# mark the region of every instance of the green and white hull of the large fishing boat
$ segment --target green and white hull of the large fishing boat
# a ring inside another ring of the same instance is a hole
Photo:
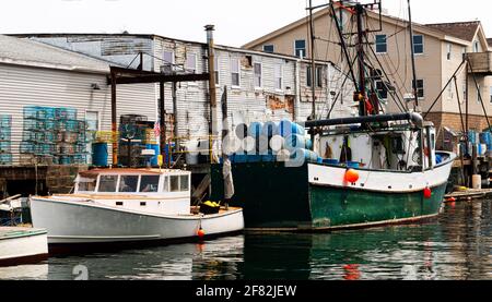
[[[244,208],[247,230],[324,231],[412,222],[438,215],[452,160],[425,172],[358,170],[284,162],[234,164],[236,192],[231,205]],[[424,189],[432,192],[430,198]],[[221,200],[221,166],[212,167],[213,200]]]

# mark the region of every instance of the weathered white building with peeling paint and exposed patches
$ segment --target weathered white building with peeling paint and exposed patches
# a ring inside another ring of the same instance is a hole
[[[208,72],[207,45],[156,35],[36,34],[16,35],[119,65],[137,68],[143,55],[143,70],[155,72]],[[234,126],[254,120],[291,118],[305,121],[312,113],[311,84],[316,85],[317,117],[326,118],[335,96],[340,94],[332,116],[354,114],[352,88],[342,87],[344,74],[328,61],[318,61],[315,81],[307,75],[309,62],[294,56],[272,55],[215,46],[216,96],[226,87],[229,121]],[[153,85],[154,102],[159,84]],[[204,137],[210,120],[207,82],[180,83],[173,100],[172,84],[165,85],[165,109],[176,119],[177,136]],[[118,104],[121,101],[118,99]],[[155,105],[157,106],[157,105]],[[175,110],[176,108],[176,110]],[[155,109],[155,107],[153,107]],[[156,110],[155,110],[156,111]]]

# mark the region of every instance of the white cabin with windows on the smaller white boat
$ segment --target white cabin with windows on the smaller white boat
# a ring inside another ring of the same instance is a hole
[[[157,215],[190,215],[189,171],[101,169],[79,173],[74,194],[63,198]]]

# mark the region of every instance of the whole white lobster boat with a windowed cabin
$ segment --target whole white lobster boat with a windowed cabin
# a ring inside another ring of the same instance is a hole
[[[190,205],[190,172],[99,169],[81,172],[73,194],[31,197],[33,226],[48,243],[116,243],[219,235],[244,228],[242,208],[203,214]]]

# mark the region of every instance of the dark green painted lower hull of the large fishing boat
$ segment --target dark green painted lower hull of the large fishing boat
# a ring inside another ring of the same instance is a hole
[[[387,222],[437,215],[446,183],[423,192],[386,193],[308,183],[307,165],[233,164],[232,206],[244,208],[246,228],[309,229]],[[222,166],[212,166],[213,201],[223,196]]]

